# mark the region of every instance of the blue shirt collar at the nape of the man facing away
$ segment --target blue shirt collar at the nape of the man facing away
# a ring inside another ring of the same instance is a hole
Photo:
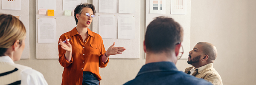
[[[152,62],[143,65],[140,69],[140,72],[137,76],[149,72],[157,72],[157,71],[178,71],[175,64],[173,62]]]

